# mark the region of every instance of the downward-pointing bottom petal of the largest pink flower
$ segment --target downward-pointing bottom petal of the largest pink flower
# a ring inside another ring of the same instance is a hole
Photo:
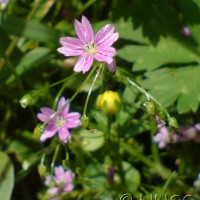
[[[76,65],[74,66],[74,71],[75,72],[83,71],[83,73],[85,73],[85,72],[89,71],[92,64],[93,64],[93,56],[83,54],[80,56],[80,58],[76,62]]]

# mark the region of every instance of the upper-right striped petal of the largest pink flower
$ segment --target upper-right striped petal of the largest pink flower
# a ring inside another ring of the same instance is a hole
[[[118,33],[114,33],[114,26],[107,24],[95,35],[95,43],[98,45],[111,46],[119,38]]]

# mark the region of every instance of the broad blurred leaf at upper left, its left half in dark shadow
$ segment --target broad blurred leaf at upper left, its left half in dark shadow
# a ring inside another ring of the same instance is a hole
[[[39,42],[58,42],[59,32],[38,21],[7,16],[2,20],[2,29],[9,34],[24,36]]]

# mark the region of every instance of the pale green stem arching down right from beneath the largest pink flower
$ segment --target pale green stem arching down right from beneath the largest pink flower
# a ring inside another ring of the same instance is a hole
[[[135,83],[130,77],[122,74],[119,70],[116,71],[116,77],[120,78],[120,80],[124,82],[125,84],[128,83],[130,86],[133,86],[134,88],[136,88],[140,93],[146,96],[148,101],[151,100],[155,104],[157,104],[165,112],[168,119],[170,118],[170,114],[167,112],[165,107],[157,99],[155,99],[152,95],[150,95],[144,88],[142,88],[137,83]]]

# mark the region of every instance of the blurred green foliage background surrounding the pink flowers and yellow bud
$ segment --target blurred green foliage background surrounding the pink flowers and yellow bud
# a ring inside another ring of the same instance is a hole
[[[4,199],[10,195],[11,199],[45,198],[37,166],[44,152],[45,165],[50,165],[57,141],[41,144],[34,139],[36,114],[41,106],[51,107],[60,91],[60,85],[49,85],[73,73],[75,60],[64,58],[56,49],[61,36],[75,34],[74,19],[82,15],[96,31],[107,23],[115,25],[120,34],[115,45],[117,66],[177,118],[176,132],[200,122],[199,0],[11,0],[0,12],[0,169],[10,166],[8,183],[0,182],[0,199],[2,194]],[[188,36],[182,33],[184,27],[190,31]],[[72,96],[85,78],[80,74],[64,83],[63,95]],[[73,101],[73,110],[82,113],[91,81]],[[95,105],[97,96],[107,89],[118,91],[122,98],[122,109],[112,118],[116,140],[112,145],[105,141],[94,152],[72,142],[70,160],[65,160],[61,148],[57,162],[67,162],[77,177],[74,192],[63,198],[119,199],[131,193],[138,199],[140,194],[162,194],[175,171],[165,193],[199,199],[193,186],[200,168],[199,142],[189,140],[159,150],[152,141],[155,122],[137,90],[112,78],[98,80],[88,109],[91,128],[107,130],[107,117]],[[37,101],[23,109],[19,100],[33,90],[39,91]],[[117,172],[111,184],[106,174],[112,167]]]

